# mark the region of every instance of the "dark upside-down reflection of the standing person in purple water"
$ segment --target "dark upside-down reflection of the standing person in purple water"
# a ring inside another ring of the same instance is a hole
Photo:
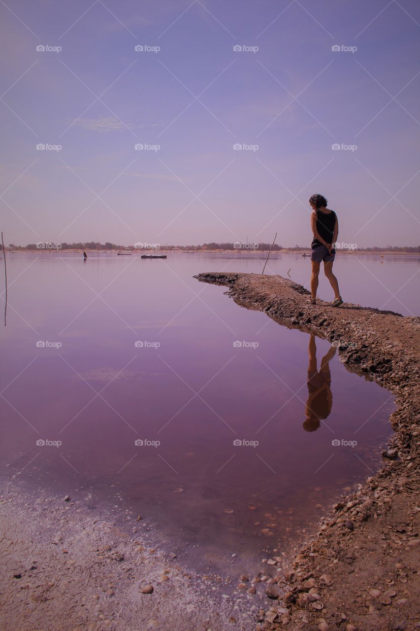
[[[328,353],[321,360],[320,369],[317,369],[317,346],[315,335],[309,339],[309,366],[308,366],[308,401],[306,401],[306,421],[303,429],[306,432],[315,432],[320,426],[320,421],[328,418],[332,408],[331,373],[329,362],[335,355],[335,348],[331,346]]]

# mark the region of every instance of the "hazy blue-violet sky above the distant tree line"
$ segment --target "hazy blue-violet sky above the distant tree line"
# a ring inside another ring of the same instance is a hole
[[[342,244],[420,243],[417,0],[1,0],[0,17],[6,245],[305,246],[313,193]]]

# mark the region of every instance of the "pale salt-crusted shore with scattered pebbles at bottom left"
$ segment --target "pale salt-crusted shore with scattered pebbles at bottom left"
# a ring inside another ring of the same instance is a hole
[[[1,487],[2,631],[255,629],[264,589],[232,594],[222,577],[185,569],[135,517],[127,533],[124,514],[90,509],[86,493]]]

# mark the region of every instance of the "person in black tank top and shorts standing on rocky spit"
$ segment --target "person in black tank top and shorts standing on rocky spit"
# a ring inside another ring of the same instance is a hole
[[[315,194],[309,199],[313,213],[311,215],[311,228],[313,232],[312,240],[312,276],[311,276],[311,297],[308,300],[312,305],[317,304],[317,289],[319,268],[324,261],[324,272],[334,290],[333,307],[342,305],[342,298],[338,286],[337,278],[332,273],[332,264],[335,258],[333,244],[338,237],[338,219],[334,210],[327,208],[327,200],[324,196]]]

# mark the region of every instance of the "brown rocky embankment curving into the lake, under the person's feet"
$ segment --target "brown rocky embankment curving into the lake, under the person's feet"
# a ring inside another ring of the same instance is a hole
[[[349,370],[386,387],[397,410],[383,468],[331,507],[315,539],[267,585],[261,631],[420,628],[420,318],[359,305],[339,309],[281,276],[202,273],[238,304],[328,339]]]

